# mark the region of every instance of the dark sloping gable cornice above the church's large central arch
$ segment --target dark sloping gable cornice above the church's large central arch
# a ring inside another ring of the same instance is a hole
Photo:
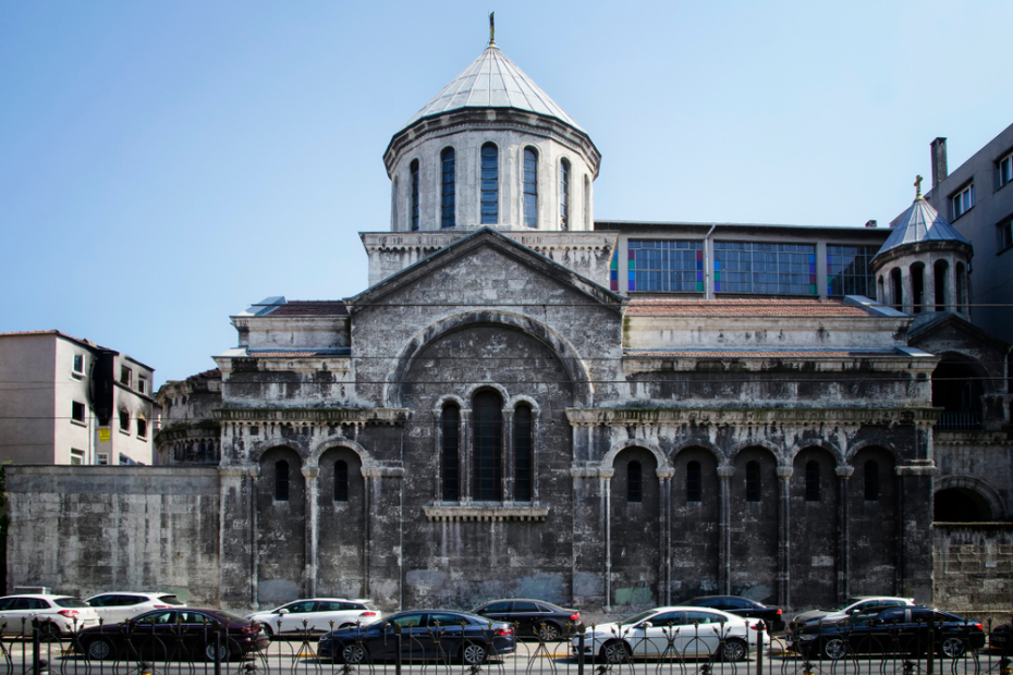
[[[551,260],[513,241],[509,236],[491,228],[481,228],[474,233],[457,240],[456,242],[444,246],[431,256],[423,258],[414,265],[410,265],[400,272],[396,272],[379,283],[366,289],[354,297],[345,298],[344,303],[350,314],[355,314],[358,309],[373,305],[382,304],[385,297],[396,292],[402,287],[412,285],[415,281],[432,273],[444,265],[459,259],[468,251],[474,250],[483,245],[490,245],[500,251],[513,257],[514,259],[538,269],[546,277],[557,280],[561,285],[572,287],[577,293],[593,298],[595,302],[612,307],[617,312],[622,312],[625,298],[618,293],[609,291],[590,279],[577,274],[567,267]],[[524,303],[524,298],[517,298],[518,304]],[[456,303],[455,303],[456,304]],[[502,306],[501,300],[491,300],[489,303],[478,303],[485,305]]]

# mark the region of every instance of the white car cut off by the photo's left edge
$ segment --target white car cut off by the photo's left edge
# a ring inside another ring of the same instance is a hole
[[[88,626],[98,625],[98,614],[78,598],[50,593],[24,593],[0,598],[3,635],[30,635],[38,618],[44,639],[59,639]]]

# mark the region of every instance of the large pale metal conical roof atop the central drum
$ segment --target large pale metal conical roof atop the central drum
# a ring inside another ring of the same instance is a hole
[[[556,118],[584,131],[495,44],[489,45],[402,128],[423,118],[460,108],[516,108]]]

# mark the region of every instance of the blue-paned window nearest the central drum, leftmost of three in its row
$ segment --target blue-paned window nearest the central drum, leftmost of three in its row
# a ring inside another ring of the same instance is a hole
[[[704,292],[704,243],[630,240],[630,291]]]

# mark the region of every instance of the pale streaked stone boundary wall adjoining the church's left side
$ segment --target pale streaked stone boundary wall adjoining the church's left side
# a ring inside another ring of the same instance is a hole
[[[8,587],[218,604],[217,468],[8,466]]]

